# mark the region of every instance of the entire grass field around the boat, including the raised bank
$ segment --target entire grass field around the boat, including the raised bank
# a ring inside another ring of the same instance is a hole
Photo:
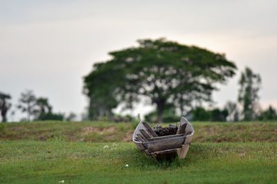
[[[277,123],[193,125],[186,158],[156,163],[132,123],[0,124],[0,183],[276,183]]]

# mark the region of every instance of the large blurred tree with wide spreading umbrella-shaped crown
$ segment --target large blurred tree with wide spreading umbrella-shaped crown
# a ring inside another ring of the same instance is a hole
[[[139,46],[109,54],[109,61],[94,65],[84,77],[89,109],[111,111],[118,103],[132,108],[133,102],[148,98],[159,122],[168,104],[184,113],[197,102],[211,101],[216,84],[236,69],[223,54],[166,39],[142,39]]]

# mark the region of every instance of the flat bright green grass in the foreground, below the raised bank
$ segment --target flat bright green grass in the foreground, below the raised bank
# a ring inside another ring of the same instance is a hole
[[[156,163],[131,142],[2,141],[0,182],[276,183],[276,150],[275,142],[197,143],[184,160]]]

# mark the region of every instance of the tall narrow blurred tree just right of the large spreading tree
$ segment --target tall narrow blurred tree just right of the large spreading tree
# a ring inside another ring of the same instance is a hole
[[[244,120],[256,120],[258,108],[258,91],[260,90],[260,75],[253,73],[250,68],[245,68],[240,76],[240,90],[238,101],[242,104],[242,116]]]

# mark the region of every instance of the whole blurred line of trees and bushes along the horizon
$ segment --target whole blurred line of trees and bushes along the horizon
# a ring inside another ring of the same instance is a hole
[[[259,91],[262,79],[246,67],[238,81],[238,101],[227,102],[220,109],[211,98],[220,84],[235,75],[235,63],[222,53],[206,48],[187,46],[167,39],[139,39],[138,46],[116,50],[111,59],[93,65],[84,76],[83,93],[89,100],[82,120],[132,122],[141,118],[114,113],[122,107],[131,110],[148,102],[154,111],[145,116],[150,122],[188,120],[211,122],[276,121],[274,107],[262,110]],[[7,121],[11,96],[0,92],[1,120]],[[16,109],[26,115],[21,121],[77,120],[73,112],[66,115],[53,111],[48,98],[33,91],[21,93]]]

